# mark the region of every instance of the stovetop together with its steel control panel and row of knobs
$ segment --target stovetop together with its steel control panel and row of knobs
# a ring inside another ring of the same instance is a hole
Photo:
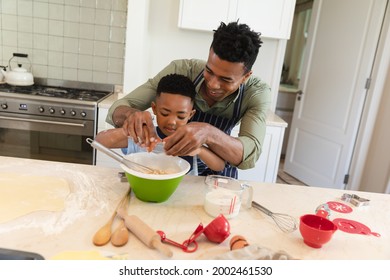
[[[34,79],[32,86],[0,84],[0,115],[51,119],[95,120],[98,103],[114,92],[113,85]]]

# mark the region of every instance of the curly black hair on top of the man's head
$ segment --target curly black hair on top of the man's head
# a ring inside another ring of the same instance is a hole
[[[215,54],[229,62],[243,62],[246,72],[252,69],[261,44],[261,33],[255,32],[246,24],[230,22],[214,30],[211,47]]]

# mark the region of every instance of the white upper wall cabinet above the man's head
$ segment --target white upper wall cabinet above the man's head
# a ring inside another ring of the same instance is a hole
[[[181,0],[178,26],[211,31],[239,20],[264,37],[289,39],[294,9],[295,0]]]

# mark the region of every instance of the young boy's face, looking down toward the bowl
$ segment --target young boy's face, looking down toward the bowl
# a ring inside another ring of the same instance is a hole
[[[166,136],[187,124],[195,113],[191,98],[165,92],[156,98],[156,102],[152,102],[152,110],[156,115],[158,127]]]

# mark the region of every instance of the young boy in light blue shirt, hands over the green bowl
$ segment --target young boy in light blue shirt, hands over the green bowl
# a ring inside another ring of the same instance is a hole
[[[183,75],[170,74],[160,80],[157,86],[156,99],[151,103],[153,113],[156,115],[156,132],[160,137],[160,139],[151,139],[154,144],[163,141],[162,139],[174,133],[177,128],[187,124],[195,114],[193,109],[195,95],[194,84]],[[148,112],[145,113],[149,114]],[[146,130],[145,132],[147,133]],[[123,128],[102,131],[96,135],[95,140],[108,148],[122,148],[125,154],[146,151],[146,148],[137,145],[131,138],[128,138]],[[223,159],[207,147],[202,146],[188,156],[182,156],[190,163],[192,167],[191,174],[193,175],[198,175],[197,156],[214,171],[218,172],[225,168]]]

